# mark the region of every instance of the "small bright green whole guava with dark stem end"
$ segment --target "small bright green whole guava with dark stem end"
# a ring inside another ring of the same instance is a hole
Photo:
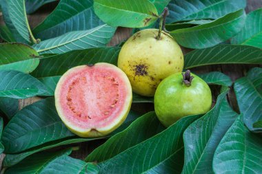
[[[211,105],[210,87],[189,70],[165,78],[154,95],[154,109],[165,127],[184,116],[207,113]]]

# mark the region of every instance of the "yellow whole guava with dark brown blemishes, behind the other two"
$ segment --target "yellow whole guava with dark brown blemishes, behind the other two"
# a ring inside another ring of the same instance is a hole
[[[147,29],[134,34],[121,48],[118,67],[127,74],[132,90],[142,96],[154,96],[164,78],[182,72],[183,52],[172,36]]]

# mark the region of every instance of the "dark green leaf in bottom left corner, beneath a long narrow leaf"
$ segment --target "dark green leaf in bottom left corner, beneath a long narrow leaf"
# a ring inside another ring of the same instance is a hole
[[[37,153],[30,157],[27,157],[25,160],[19,164],[8,168],[6,174],[37,174],[42,173],[43,169],[52,163],[58,157],[63,157],[71,153],[71,149],[66,149],[63,151],[54,151],[54,152],[43,152]]]

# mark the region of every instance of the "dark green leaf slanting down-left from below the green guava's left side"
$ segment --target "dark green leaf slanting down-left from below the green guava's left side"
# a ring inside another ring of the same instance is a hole
[[[103,162],[115,155],[125,151],[126,149],[139,144],[163,131],[164,127],[157,119],[154,112],[146,113],[141,118],[132,122],[124,131],[112,136],[107,142],[92,151],[86,162]],[[110,151],[108,151],[110,149]]]

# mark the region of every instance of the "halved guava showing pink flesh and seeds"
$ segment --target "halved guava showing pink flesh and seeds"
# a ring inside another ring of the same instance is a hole
[[[81,65],[61,76],[54,92],[59,117],[73,133],[108,135],[128,116],[132,87],[121,69],[109,63]]]

